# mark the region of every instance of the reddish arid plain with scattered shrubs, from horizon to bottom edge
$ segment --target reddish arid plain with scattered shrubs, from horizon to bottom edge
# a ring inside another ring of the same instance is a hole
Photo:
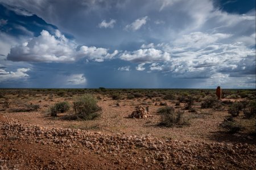
[[[84,94],[101,108],[93,120],[72,118],[73,101]],[[0,169],[256,169],[255,96],[255,90],[223,90],[220,101],[214,90],[2,89]],[[51,116],[62,101],[70,109]],[[152,117],[129,118],[137,105],[148,106]],[[164,108],[176,115],[171,125]]]

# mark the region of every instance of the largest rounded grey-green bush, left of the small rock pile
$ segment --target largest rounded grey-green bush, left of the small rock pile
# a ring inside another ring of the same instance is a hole
[[[73,109],[76,114],[76,119],[81,118],[82,120],[93,120],[100,116],[98,111],[101,110],[97,105],[97,100],[93,95],[86,94],[79,97],[73,102]]]

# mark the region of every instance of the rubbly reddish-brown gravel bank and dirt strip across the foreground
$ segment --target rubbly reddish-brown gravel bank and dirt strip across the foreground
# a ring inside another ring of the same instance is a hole
[[[1,169],[255,169],[256,147],[0,123]]]

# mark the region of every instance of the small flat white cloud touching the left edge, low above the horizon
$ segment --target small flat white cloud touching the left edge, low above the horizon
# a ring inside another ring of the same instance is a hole
[[[15,80],[28,77],[26,73],[30,69],[28,68],[20,68],[14,71],[6,71],[5,69],[0,69],[0,82],[4,82],[6,80]]]

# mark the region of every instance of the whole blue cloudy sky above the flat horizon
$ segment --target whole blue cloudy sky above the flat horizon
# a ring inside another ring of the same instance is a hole
[[[255,88],[255,0],[0,0],[0,88]]]

